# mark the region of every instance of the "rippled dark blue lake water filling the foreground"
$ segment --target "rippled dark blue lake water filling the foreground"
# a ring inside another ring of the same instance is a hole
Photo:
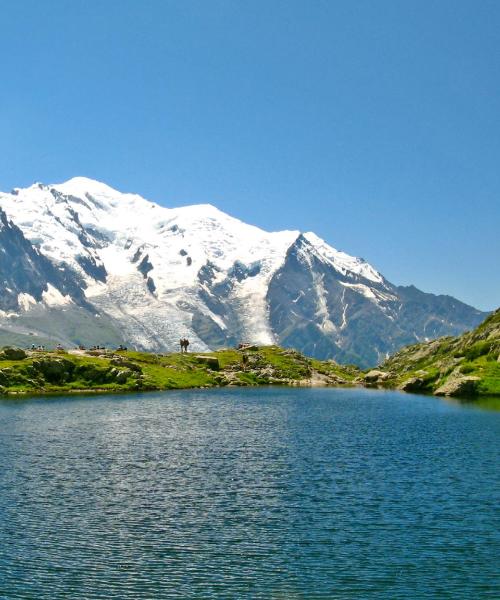
[[[370,390],[0,401],[0,598],[499,598],[500,413]]]

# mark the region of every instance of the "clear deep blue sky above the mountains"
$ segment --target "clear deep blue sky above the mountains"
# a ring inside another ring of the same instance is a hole
[[[500,2],[0,8],[0,189],[210,202],[500,305]]]

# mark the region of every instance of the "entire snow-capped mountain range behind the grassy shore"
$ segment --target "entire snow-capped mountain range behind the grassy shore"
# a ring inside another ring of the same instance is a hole
[[[1,339],[278,343],[372,364],[485,316],[396,287],[314,233],[269,233],[209,204],[164,208],[76,177],[0,193],[0,210]]]

